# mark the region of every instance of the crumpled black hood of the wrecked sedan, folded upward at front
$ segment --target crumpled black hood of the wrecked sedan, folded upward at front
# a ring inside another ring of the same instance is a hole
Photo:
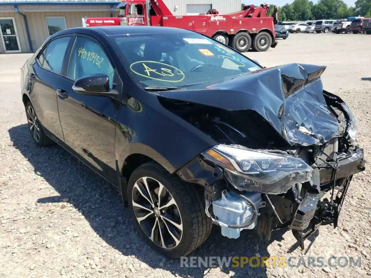
[[[209,86],[157,94],[226,110],[255,110],[290,145],[322,145],[339,129],[323,95],[320,76],[325,69],[285,64]]]

